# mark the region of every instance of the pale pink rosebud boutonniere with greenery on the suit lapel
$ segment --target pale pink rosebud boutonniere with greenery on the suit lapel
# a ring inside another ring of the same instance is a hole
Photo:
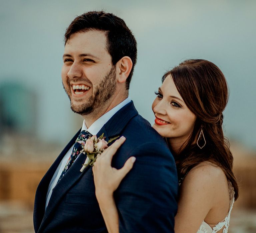
[[[83,145],[83,149],[80,151],[80,153],[86,154],[86,159],[80,171],[83,172],[88,165],[93,166],[97,155],[101,154],[108,147],[108,143],[116,140],[118,137],[111,138],[108,141],[105,141],[106,137],[104,137],[104,133],[98,138],[96,135],[89,137]]]

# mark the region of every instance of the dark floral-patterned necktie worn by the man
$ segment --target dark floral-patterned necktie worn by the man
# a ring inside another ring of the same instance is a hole
[[[71,165],[76,160],[78,154],[80,153],[80,150],[82,150],[82,146],[85,144],[85,141],[91,136],[92,136],[91,133],[89,133],[88,131],[84,131],[84,130],[81,131],[81,133],[78,135],[78,138],[76,139],[72,153],[67,161],[66,166],[64,167],[64,169],[60,175],[58,182],[60,181],[60,179],[64,176],[64,174],[67,172],[67,170],[71,167]]]

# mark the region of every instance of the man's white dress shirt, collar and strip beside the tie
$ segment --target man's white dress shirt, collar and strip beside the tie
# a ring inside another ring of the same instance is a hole
[[[87,130],[88,132],[90,132],[92,135],[96,135],[100,129],[103,127],[103,125],[105,123],[107,123],[107,121],[114,116],[114,114],[119,111],[121,108],[123,108],[125,105],[127,105],[128,103],[131,102],[130,97],[128,97],[127,99],[125,99],[123,102],[121,102],[120,104],[118,104],[117,106],[115,106],[113,109],[109,110],[107,113],[105,113],[104,115],[102,115],[100,118],[98,118],[97,120],[95,120],[92,125],[87,128],[86,124],[85,124],[85,120],[83,121],[83,125],[82,125],[82,130]],[[68,152],[64,155],[63,159],[61,160],[61,162],[59,163],[59,166],[57,167],[55,173],[52,176],[52,179],[50,181],[50,184],[48,186],[48,191],[47,191],[47,195],[46,195],[46,203],[45,203],[45,209],[49,203],[50,197],[52,195],[52,189],[55,187],[55,185],[57,184],[59,177],[64,169],[64,167],[66,166],[66,163],[72,153],[74,144],[69,148]]]

